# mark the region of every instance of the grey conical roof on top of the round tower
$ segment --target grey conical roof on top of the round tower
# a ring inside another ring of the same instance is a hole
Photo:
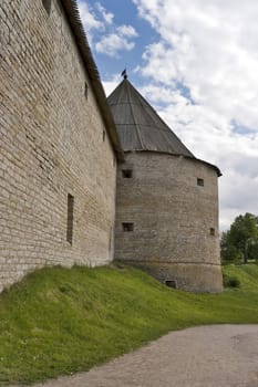
[[[126,77],[107,102],[124,151],[152,150],[195,158]]]

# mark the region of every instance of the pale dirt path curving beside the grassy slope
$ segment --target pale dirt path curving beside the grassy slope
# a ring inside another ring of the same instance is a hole
[[[258,325],[172,332],[89,373],[37,387],[258,387]]]

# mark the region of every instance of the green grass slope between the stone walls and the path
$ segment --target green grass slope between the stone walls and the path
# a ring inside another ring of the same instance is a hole
[[[0,386],[31,384],[140,347],[172,330],[258,323],[258,265],[217,295],[175,291],[132,268],[43,269],[0,295]]]

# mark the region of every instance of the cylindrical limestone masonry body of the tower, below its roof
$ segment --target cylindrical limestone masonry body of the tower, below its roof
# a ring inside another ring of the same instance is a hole
[[[180,289],[221,291],[216,169],[184,156],[125,155],[117,171],[115,259],[162,282],[176,280]],[[122,169],[132,169],[132,178]],[[123,222],[134,231],[123,231]]]

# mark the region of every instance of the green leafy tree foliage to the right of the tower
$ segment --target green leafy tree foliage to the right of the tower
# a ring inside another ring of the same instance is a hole
[[[220,239],[220,254],[224,262],[258,260],[258,217],[239,215]]]

